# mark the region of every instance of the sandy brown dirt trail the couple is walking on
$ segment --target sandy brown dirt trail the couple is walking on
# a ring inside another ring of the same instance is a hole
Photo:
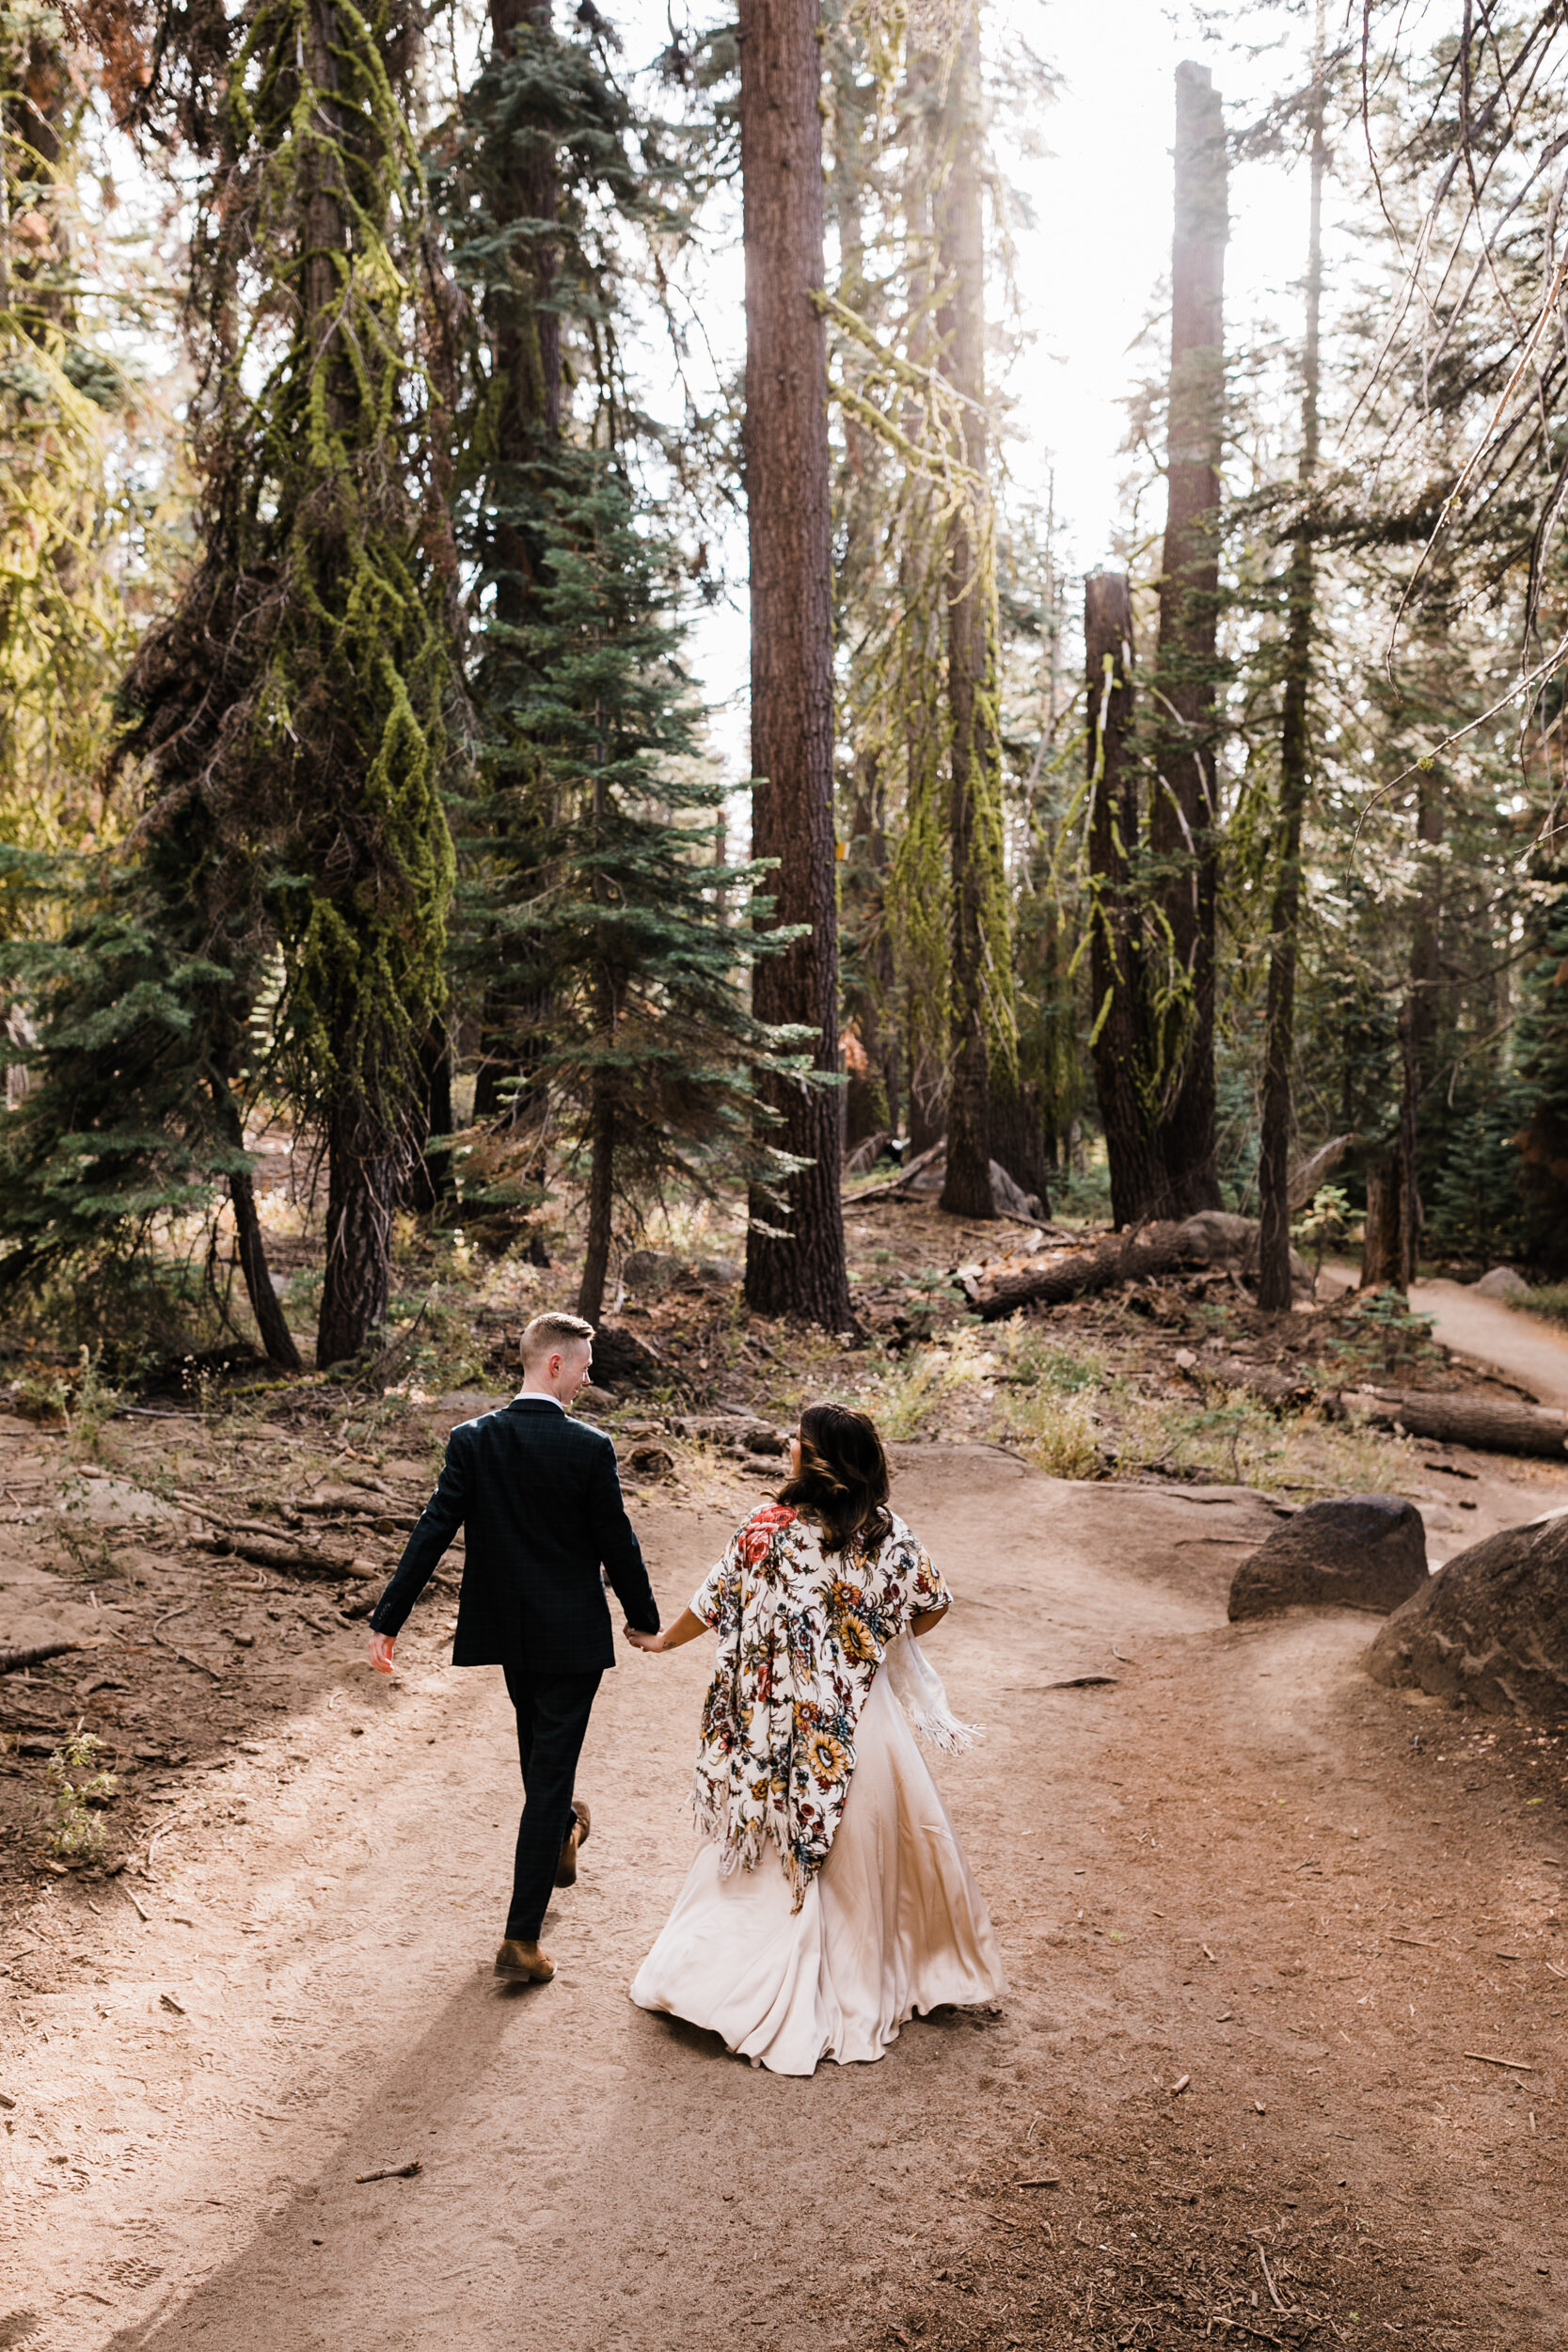
[[[559,1978],[496,1990],[515,1748],[425,1604],[395,1686],[343,1635],[341,1686],[235,1750],[230,1818],[174,1818],[148,1882],[59,1882],[0,1955],[80,1964],[7,2004],[0,2345],[1561,2343],[1552,1804],[1366,1682],[1368,1618],[1225,1623],[1265,1498],[910,1446],[896,1503],[987,1726],[940,1776],[994,2016],[788,2082],[630,2006],[705,1644],[607,1677]],[[1533,1508],[1488,1489],[1469,1526]],[[729,1512],[639,1522],[675,1606]]]

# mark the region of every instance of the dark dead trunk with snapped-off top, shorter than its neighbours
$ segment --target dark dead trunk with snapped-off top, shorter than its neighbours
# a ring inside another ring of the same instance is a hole
[[[1126,572],[1084,581],[1088,687],[1088,873],[1093,1068],[1110,1209],[1117,1225],[1140,1225],[1166,1207],[1166,1171],[1150,1122],[1150,1035],[1138,953],[1131,858],[1138,847],[1138,786],[1128,760],[1133,724],[1133,593]]]

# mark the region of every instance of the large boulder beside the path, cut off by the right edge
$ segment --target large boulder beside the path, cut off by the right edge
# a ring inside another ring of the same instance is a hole
[[[1568,1515],[1472,1543],[1406,1602],[1366,1670],[1483,1715],[1568,1712]]]

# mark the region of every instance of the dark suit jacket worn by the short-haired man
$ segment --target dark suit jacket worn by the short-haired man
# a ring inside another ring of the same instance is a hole
[[[616,1663],[599,1566],[628,1621],[658,1632],[658,1602],[621,1501],[604,1430],[555,1404],[512,1399],[461,1421],[447,1468],[371,1611],[395,1635],[435,1564],[468,1531],[454,1665],[592,1675]]]

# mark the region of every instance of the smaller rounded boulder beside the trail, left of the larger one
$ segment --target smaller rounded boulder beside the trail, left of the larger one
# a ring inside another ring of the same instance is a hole
[[[1387,1616],[1427,1585],[1427,1529],[1396,1494],[1307,1503],[1241,1562],[1229,1618],[1274,1609],[1375,1609]]]

